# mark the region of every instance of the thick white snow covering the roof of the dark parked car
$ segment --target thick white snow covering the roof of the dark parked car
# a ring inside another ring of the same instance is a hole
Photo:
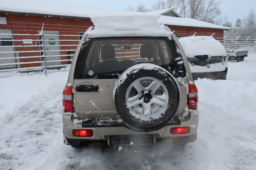
[[[183,37],[179,39],[179,42],[188,58],[197,55],[208,55],[209,57],[227,55],[224,46],[213,37]]]

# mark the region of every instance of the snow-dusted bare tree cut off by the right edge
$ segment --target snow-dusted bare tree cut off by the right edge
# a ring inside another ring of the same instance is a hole
[[[245,26],[247,27],[247,36],[256,38],[256,13],[254,10],[251,10],[245,18]]]

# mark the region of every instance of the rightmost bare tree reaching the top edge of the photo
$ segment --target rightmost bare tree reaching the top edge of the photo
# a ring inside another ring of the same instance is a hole
[[[202,21],[216,23],[218,16],[221,14],[219,0],[207,0]]]

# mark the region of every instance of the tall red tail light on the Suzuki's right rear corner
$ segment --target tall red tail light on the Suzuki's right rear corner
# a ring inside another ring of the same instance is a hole
[[[198,103],[198,90],[195,83],[189,83],[188,89],[188,108],[196,109]]]

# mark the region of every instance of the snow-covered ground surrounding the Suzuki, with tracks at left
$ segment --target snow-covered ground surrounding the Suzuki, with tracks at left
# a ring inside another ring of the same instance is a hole
[[[256,169],[256,53],[229,62],[227,80],[196,81],[198,140],[182,147],[74,149],[63,143],[67,72],[1,78],[0,169]]]

